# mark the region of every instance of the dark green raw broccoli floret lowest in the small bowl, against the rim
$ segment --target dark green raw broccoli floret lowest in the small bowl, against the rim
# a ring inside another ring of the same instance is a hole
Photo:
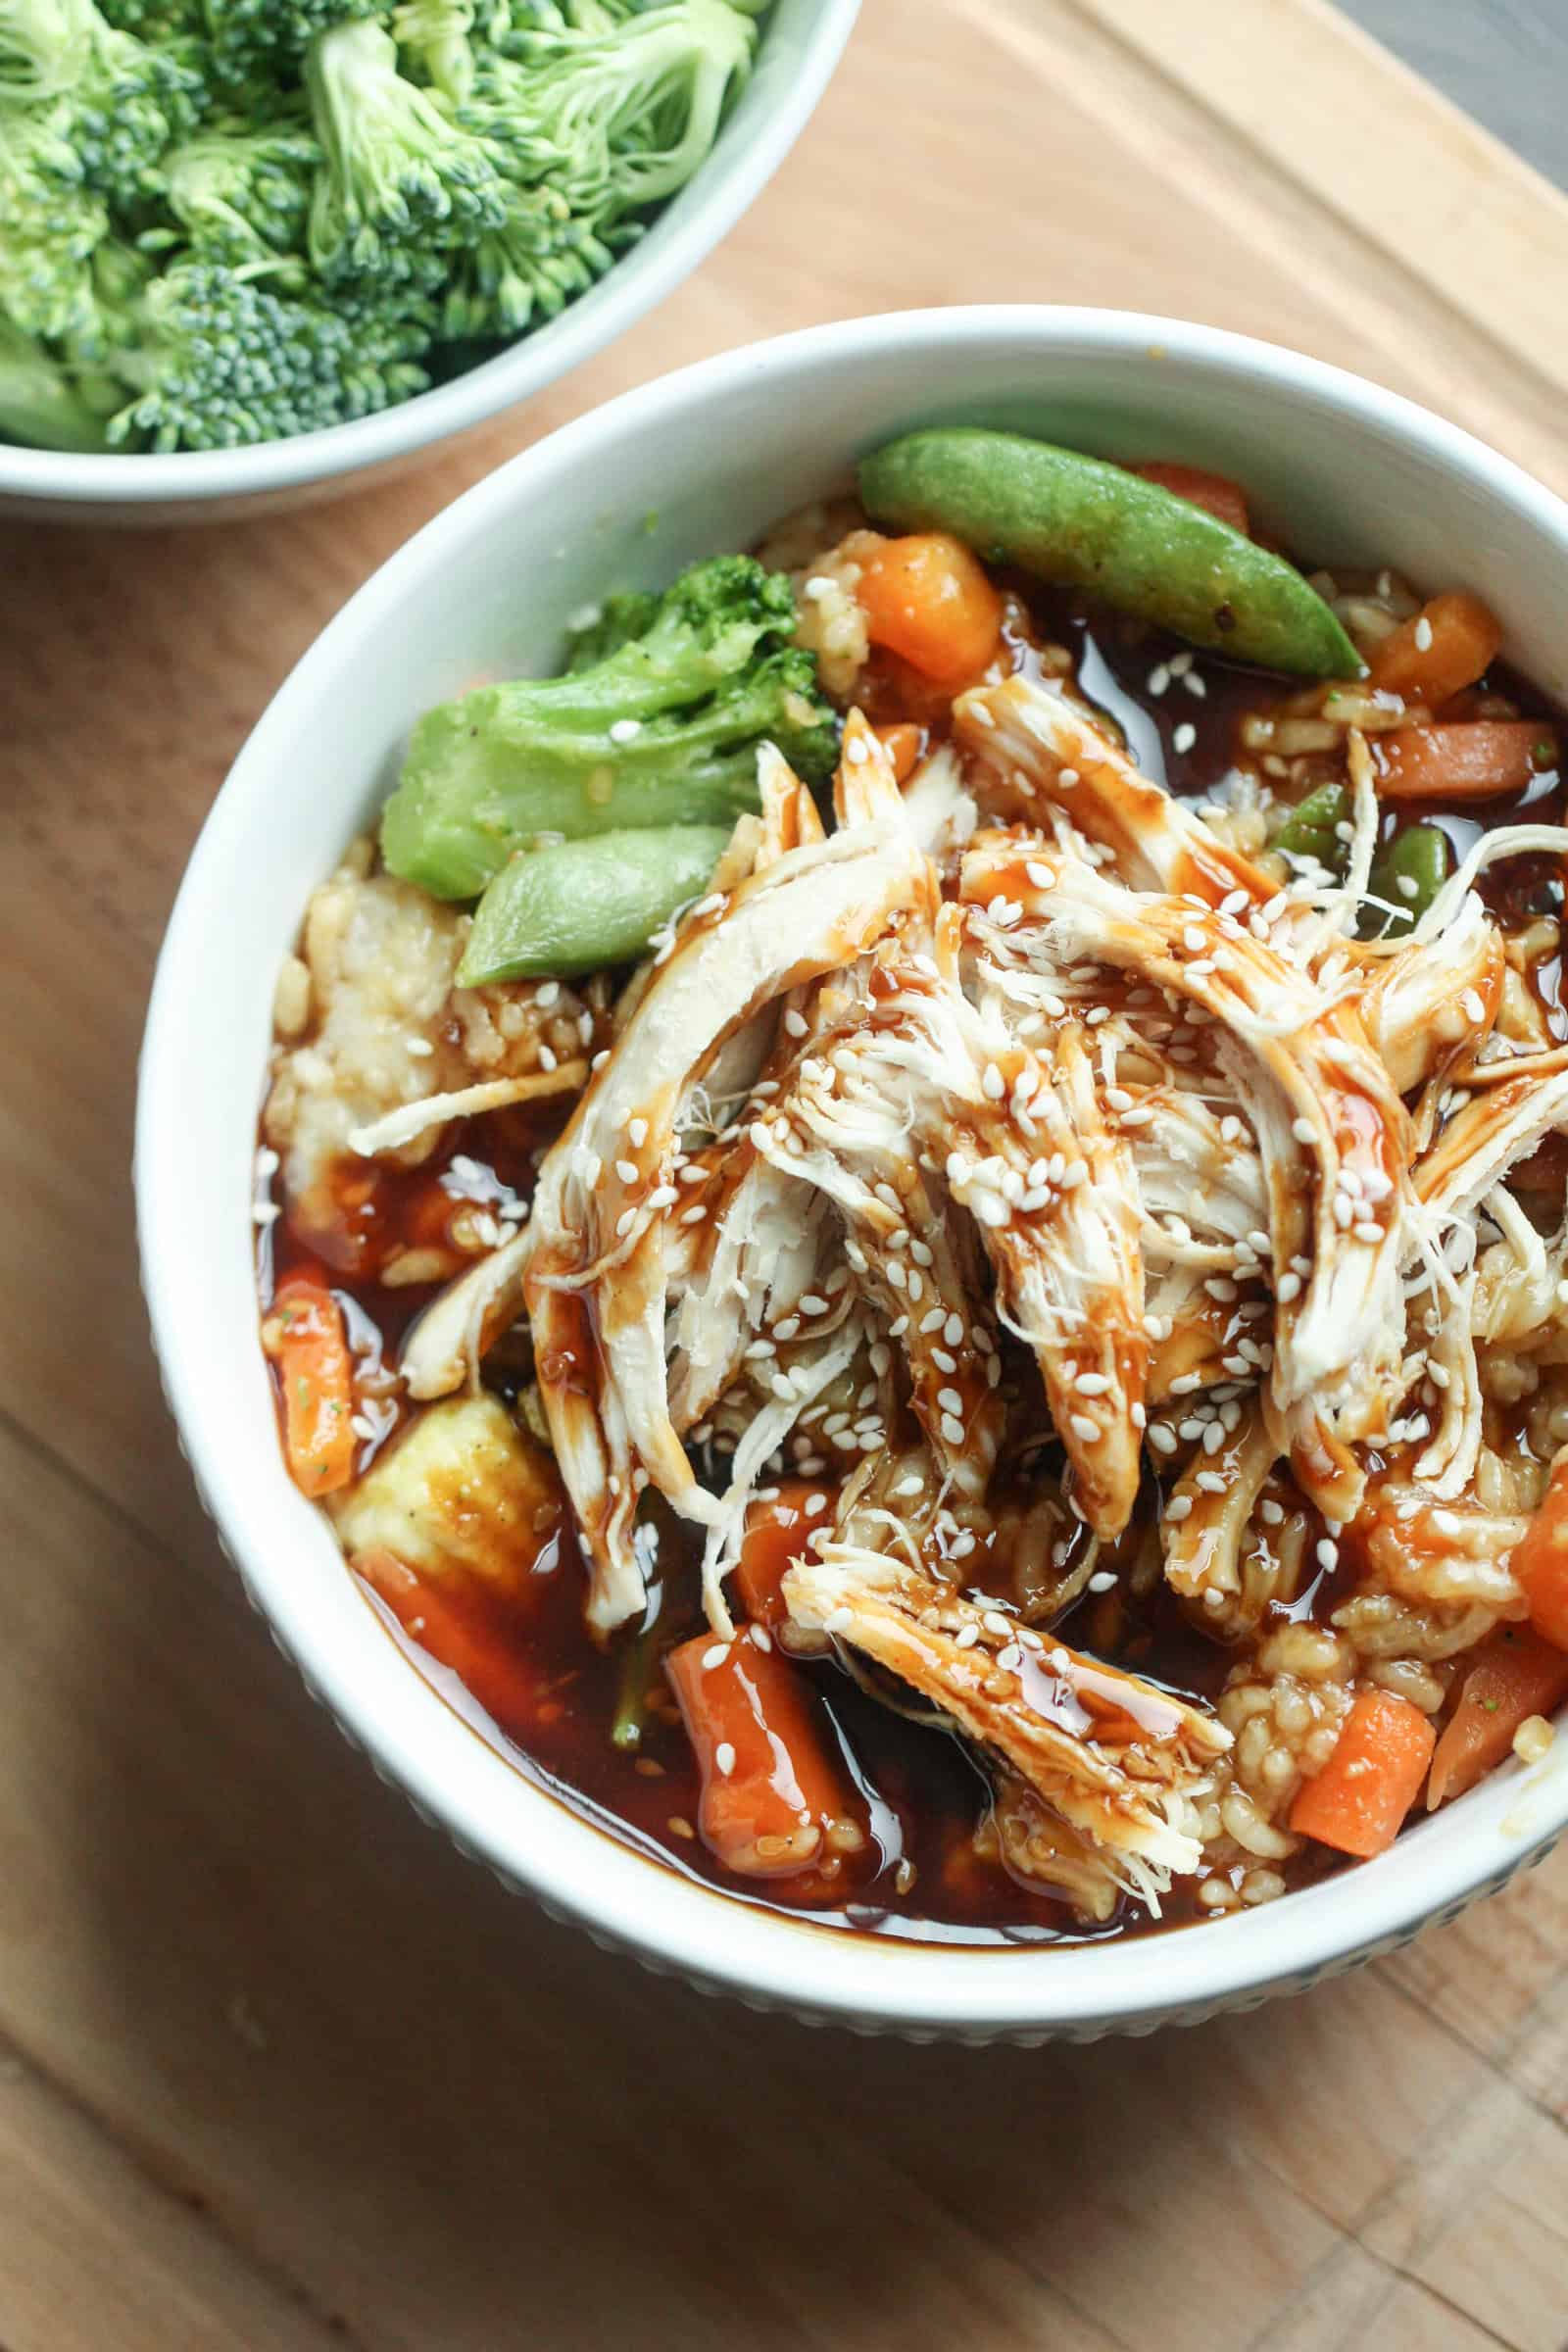
[[[428,327],[395,310],[327,310],[242,270],[181,261],[148,285],[136,339],[113,367],[136,397],[113,442],[237,449],[348,423],[430,381]]]

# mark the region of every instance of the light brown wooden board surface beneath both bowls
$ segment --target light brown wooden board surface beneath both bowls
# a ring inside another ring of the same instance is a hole
[[[1566,296],[1568,202],[1319,0],[867,0],[748,223],[524,416],[301,515],[0,529],[2,2352],[1568,2340],[1568,1851],[1305,1999],[1086,2051],[642,1976],[423,1830],[244,1609],[127,1178],[228,760],[550,423],[813,318],[1098,299],[1347,360],[1568,482]]]

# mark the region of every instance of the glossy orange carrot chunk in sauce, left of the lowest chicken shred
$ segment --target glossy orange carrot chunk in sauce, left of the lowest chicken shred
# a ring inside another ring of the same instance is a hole
[[[703,1773],[703,1844],[748,1879],[818,1867],[856,1823],[799,1670],[741,1632],[682,1642],[665,1675]]]

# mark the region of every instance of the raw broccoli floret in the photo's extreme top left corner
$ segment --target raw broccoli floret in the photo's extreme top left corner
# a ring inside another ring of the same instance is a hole
[[[0,96],[59,101],[85,183],[134,205],[158,193],[158,160],[197,120],[205,85],[186,45],[120,33],[94,0],[0,0]]]

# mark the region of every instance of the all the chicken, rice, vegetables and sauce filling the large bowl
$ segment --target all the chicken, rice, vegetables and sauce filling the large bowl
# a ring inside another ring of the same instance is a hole
[[[1500,649],[1213,473],[931,430],[418,722],[280,985],[263,1345],[595,1818],[1018,1940],[1547,1752],[1568,830]]]

